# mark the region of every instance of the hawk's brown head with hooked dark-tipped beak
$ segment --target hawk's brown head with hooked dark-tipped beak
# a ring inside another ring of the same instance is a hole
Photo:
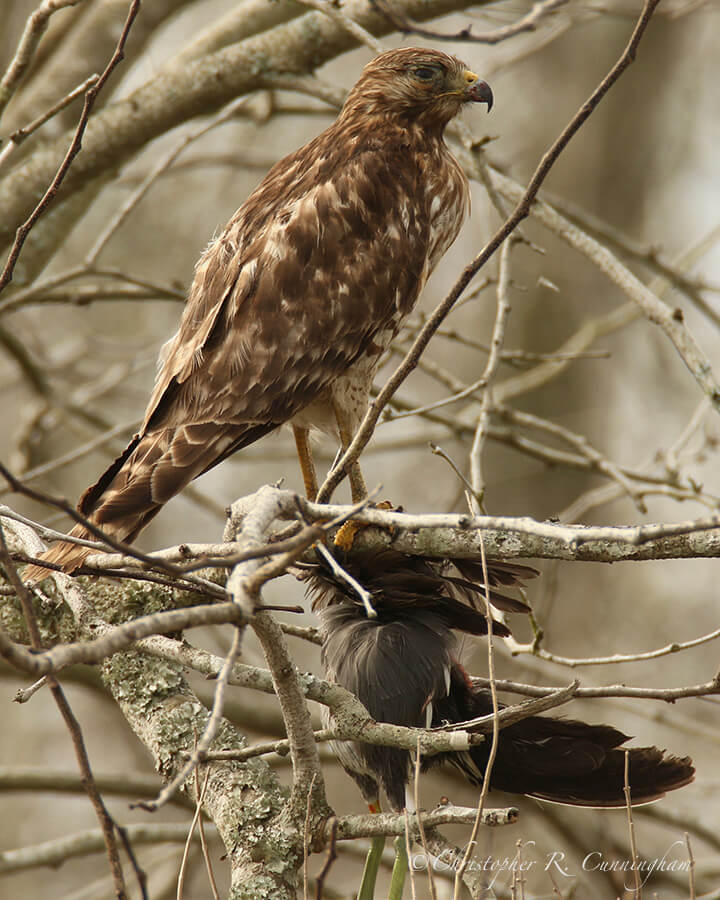
[[[489,111],[492,102],[489,86],[457,57],[407,47],[381,53],[368,63],[345,109],[442,129],[465,103],[487,103]]]

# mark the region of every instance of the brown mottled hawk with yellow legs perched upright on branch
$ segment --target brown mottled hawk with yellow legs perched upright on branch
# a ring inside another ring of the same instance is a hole
[[[83,494],[84,515],[132,541],[193,478],[285,422],[314,496],[308,430],[350,441],[381,354],[468,210],[443,130],[492,99],[434,50],[365,67],[337,120],[273,166],[201,257],[142,427]],[[60,543],[44,559],[72,572],[88,553]]]

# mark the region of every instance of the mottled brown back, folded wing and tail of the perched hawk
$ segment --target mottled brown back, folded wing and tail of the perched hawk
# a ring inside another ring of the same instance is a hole
[[[278,164],[201,258],[142,429],[80,502],[117,538],[379,354],[415,303],[432,217],[406,142],[331,161],[337,140]],[[86,555],[60,544],[47,559],[72,570]]]

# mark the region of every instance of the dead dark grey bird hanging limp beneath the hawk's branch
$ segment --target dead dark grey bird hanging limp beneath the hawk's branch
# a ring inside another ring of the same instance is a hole
[[[306,578],[313,610],[324,630],[326,677],[355,694],[381,722],[438,727],[492,713],[490,691],[475,687],[456,659],[454,631],[486,634],[482,566],[477,560],[433,560],[392,550],[354,552],[343,567],[372,598],[377,618],[368,618],[352,587],[325,564]],[[527,606],[501,589],[537,574],[527,566],[489,562],[489,599],[496,609],[526,612]],[[493,633],[508,628],[493,622]],[[470,729],[472,730],[472,729]],[[625,806],[625,750],[628,735],[609,725],[531,716],[503,728],[490,787],[576,806]],[[371,809],[382,789],[390,806],[406,806],[411,775],[407,750],[360,742],[338,742],[335,752],[357,782]],[[490,741],[467,751],[422,761],[422,769],[450,763],[472,784],[482,783]],[[656,747],[630,749],[633,803],[647,803],[693,780],[688,757]]]

